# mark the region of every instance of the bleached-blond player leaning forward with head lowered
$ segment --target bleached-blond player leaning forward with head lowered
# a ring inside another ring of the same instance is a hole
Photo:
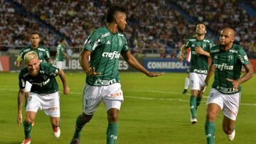
[[[43,109],[50,116],[55,138],[60,137],[60,101],[58,83],[55,77],[59,76],[63,83],[63,93],[68,95],[69,88],[63,70],[51,64],[40,62],[36,52],[27,52],[24,56],[26,67],[18,75],[18,126],[22,122],[23,93],[26,82],[32,84],[26,105],[26,118],[23,121],[25,139],[23,144],[31,143],[31,128],[38,109]]]

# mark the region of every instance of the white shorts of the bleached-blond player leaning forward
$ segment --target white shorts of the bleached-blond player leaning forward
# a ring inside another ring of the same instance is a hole
[[[52,94],[29,93],[26,111],[37,112],[43,109],[46,115],[60,117],[60,95],[58,92]]]

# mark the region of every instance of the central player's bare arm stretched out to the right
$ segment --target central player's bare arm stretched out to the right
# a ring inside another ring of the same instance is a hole
[[[132,65],[132,67],[136,68],[137,70],[143,72],[148,77],[158,77],[163,75],[164,73],[155,73],[155,72],[149,72],[146,70],[137,60],[136,58],[131,54],[130,51],[122,52],[122,56],[124,57],[124,60],[129,63],[129,65]]]

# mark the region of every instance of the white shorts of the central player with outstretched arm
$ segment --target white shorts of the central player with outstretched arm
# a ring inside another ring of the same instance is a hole
[[[100,102],[103,101],[105,109],[120,109],[124,96],[121,84],[114,83],[108,86],[90,86],[85,84],[82,94],[82,110],[87,115],[93,115]]]

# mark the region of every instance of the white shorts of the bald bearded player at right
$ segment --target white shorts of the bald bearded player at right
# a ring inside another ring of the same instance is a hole
[[[223,110],[224,116],[235,121],[238,116],[239,103],[241,99],[241,92],[235,94],[222,94],[217,89],[210,89],[210,94],[206,104],[218,104]]]

